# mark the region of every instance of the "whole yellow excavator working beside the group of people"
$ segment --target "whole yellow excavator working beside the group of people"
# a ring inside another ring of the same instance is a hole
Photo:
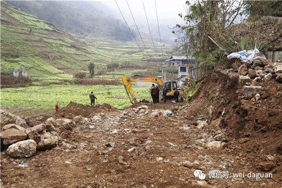
[[[133,88],[131,83],[132,82],[153,82],[157,84],[157,87],[160,89],[161,92],[163,92],[163,89],[165,88],[167,91],[167,97],[171,98],[173,97],[173,93],[175,89],[177,88],[176,81],[166,81],[163,82],[160,78],[155,76],[142,76],[142,75],[135,75],[133,77],[127,78],[125,75],[121,76],[122,83],[124,85],[125,91],[129,97],[129,100],[131,103],[137,102],[136,96],[134,95]],[[180,95],[180,100],[183,101],[184,97],[184,90],[178,89]],[[131,96],[131,97],[130,97]]]

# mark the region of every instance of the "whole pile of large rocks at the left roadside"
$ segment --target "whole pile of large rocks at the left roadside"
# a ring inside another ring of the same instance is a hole
[[[13,158],[30,157],[36,153],[36,150],[47,150],[57,146],[58,133],[72,130],[76,123],[81,123],[84,120],[77,117],[74,118],[75,123],[72,119],[55,120],[50,117],[44,123],[25,128],[15,123],[5,124],[7,122],[20,122],[20,124],[26,126],[26,122],[22,118],[5,110],[2,110],[1,114],[4,114],[4,118],[1,118],[4,124],[2,124],[1,131],[1,146],[2,149],[8,147],[6,152]]]

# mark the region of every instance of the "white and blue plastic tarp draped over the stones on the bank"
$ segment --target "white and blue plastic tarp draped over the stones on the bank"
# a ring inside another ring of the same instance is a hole
[[[248,62],[251,64],[254,59],[266,59],[264,54],[260,53],[258,49],[251,49],[251,50],[242,50],[239,52],[230,53],[227,55],[227,58],[238,58],[241,59],[242,62]]]

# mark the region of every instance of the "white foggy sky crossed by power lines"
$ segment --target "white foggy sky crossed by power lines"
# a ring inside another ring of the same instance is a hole
[[[111,14],[123,21],[123,18],[118,10],[118,7],[115,1],[101,1],[104,5],[106,5],[110,10]],[[125,0],[117,0],[116,1],[126,22],[128,25],[136,29],[133,19],[131,17],[128,5]],[[142,0],[127,0],[133,17],[136,21],[137,27],[139,28],[142,33],[149,33],[147,20],[144,12],[144,7]],[[158,24],[157,24],[157,16],[156,16],[156,6],[154,0],[144,0],[144,5],[146,9],[146,14],[148,17],[148,21],[150,24],[150,29],[153,35],[154,40],[159,38],[159,31],[158,31]],[[173,44],[174,35],[172,34],[172,29],[176,23],[182,23],[183,21],[178,16],[179,13],[184,14],[184,6],[185,0],[156,0],[157,11],[158,11],[158,18],[159,18],[159,25],[160,25],[160,32],[161,37],[164,42]]]

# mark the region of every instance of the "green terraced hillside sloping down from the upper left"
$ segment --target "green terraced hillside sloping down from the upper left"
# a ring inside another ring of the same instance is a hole
[[[1,2],[1,67],[2,73],[25,68],[35,80],[62,81],[78,71],[87,71],[89,62],[96,70],[115,62],[143,62],[148,53],[139,51],[135,43],[94,38],[86,44],[59,27],[23,13]],[[113,50],[108,45],[115,43]],[[165,54],[165,56],[167,56]]]

